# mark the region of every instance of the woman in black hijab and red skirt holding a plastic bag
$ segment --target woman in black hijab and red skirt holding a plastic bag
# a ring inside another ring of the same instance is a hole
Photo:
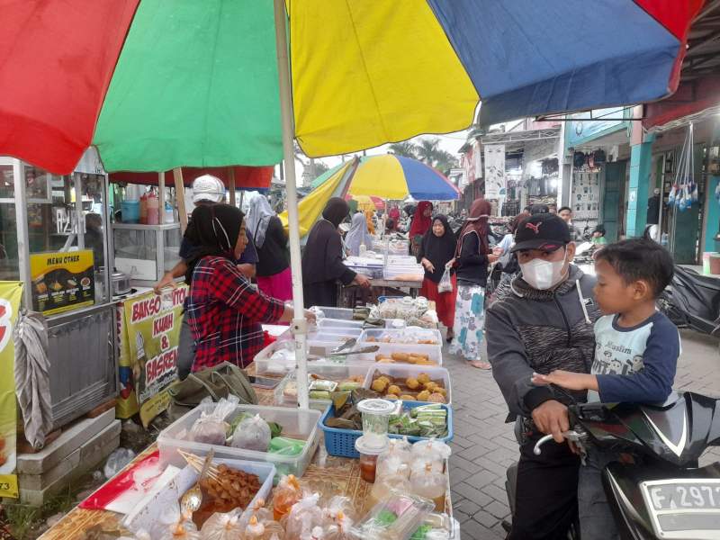
[[[428,300],[435,301],[437,319],[447,328],[447,341],[453,338],[453,324],[455,321],[455,293],[457,281],[453,275],[453,290],[447,293],[437,291],[437,284],[445,273],[445,267],[455,257],[457,238],[446,216],[437,215],[433,218],[433,225],[425,233],[420,242],[418,260],[425,268],[425,277],[422,281],[420,294]]]

